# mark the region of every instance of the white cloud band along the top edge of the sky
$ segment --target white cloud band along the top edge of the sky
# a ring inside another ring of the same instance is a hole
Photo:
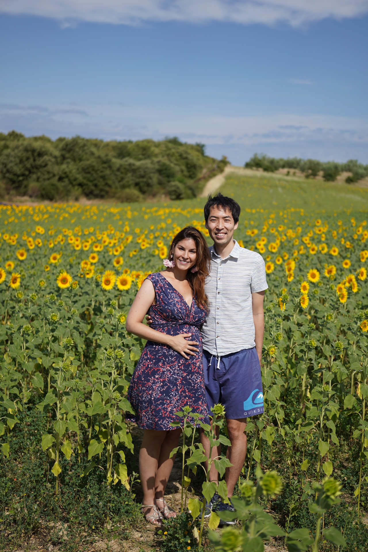
[[[57,19],[63,28],[77,21],[139,25],[145,22],[288,23],[368,13],[368,0],[0,0],[0,13]]]

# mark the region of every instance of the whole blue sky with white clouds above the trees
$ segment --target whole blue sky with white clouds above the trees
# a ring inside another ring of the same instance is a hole
[[[368,163],[368,0],[0,0],[0,14],[2,132]]]

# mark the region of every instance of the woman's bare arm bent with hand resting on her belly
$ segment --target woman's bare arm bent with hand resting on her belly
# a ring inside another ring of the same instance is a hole
[[[195,353],[198,352],[198,349],[195,346],[198,346],[196,341],[187,341],[185,338],[190,337],[190,333],[182,333],[178,336],[170,336],[167,333],[158,332],[153,330],[148,326],[143,324],[143,319],[147,314],[148,309],[154,301],[154,288],[150,280],[145,280],[138,293],[135,296],[135,299],[130,307],[127,319],[126,319],[126,330],[129,333],[134,333],[138,337],[143,339],[148,339],[149,341],[154,341],[156,343],[163,343],[168,345],[174,351],[177,351],[184,358],[188,359],[188,355],[195,356]]]

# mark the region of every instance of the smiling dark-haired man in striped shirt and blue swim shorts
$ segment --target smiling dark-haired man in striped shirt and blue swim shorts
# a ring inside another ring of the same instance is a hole
[[[236,201],[220,193],[214,198],[209,196],[204,208],[206,228],[214,245],[210,247],[211,270],[205,283],[209,315],[202,328],[203,365],[209,411],[217,402],[225,407],[231,442],[226,455],[232,464],[225,472],[229,498],[246,458],[246,420],[264,411],[260,362],[263,299],[268,285],[260,254],[233,240],[239,214]],[[201,443],[209,457],[210,444],[204,432]],[[219,446],[217,452],[212,451],[212,457],[220,452]],[[210,480],[218,481],[213,463]],[[226,504],[217,494],[207,504],[206,516],[212,509],[234,511],[231,501]]]

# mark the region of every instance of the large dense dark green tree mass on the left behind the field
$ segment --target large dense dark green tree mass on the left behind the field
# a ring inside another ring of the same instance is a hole
[[[2,195],[40,199],[114,197],[139,201],[157,194],[171,199],[195,197],[206,175],[227,161],[205,155],[204,144],[185,144],[177,137],[106,141],[75,136],[52,141],[0,133]]]

